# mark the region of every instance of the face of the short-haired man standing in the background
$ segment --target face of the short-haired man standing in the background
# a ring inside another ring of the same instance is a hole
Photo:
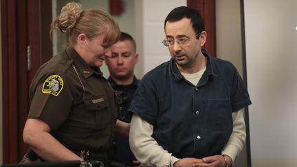
[[[138,61],[138,54],[129,40],[118,41],[111,45],[111,57],[105,61],[111,78],[120,85],[133,82],[134,67]]]

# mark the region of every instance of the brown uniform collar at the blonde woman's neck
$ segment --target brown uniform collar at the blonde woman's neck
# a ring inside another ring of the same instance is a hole
[[[87,63],[85,63],[85,60],[81,58],[81,56],[76,52],[76,50],[73,47],[68,47],[66,49],[66,54],[74,60],[74,65],[78,67],[78,70],[83,74],[85,78],[88,78],[89,76],[96,74],[102,76],[102,72],[100,71],[100,68],[92,68]]]

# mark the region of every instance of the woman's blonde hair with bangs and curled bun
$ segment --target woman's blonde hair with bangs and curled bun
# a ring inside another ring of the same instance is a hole
[[[98,9],[81,9],[81,4],[67,3],[61,14],[51,24],[50,36],[54,30],[60,30],[67,36],[67,46],[77,44],[78,36],[85,34],[91,39],[98,34],[106,36],[102,41],[104,47],[109,47],[120,38],[120,27],[109,14]]]

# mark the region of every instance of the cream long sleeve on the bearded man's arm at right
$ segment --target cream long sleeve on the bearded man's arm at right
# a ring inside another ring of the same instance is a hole
[[[235,158],[245,144],[245,120],[243,118],[244,109],[232,113],[233,131],[228,140],[228,143],[223,148],[221,155],[229,155],[234,162]]]

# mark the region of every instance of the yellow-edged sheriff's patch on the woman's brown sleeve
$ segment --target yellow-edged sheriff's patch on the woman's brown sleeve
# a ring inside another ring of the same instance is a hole
[[[43,93],[52,94],[54,96],[58,96],[58,94],[62,91],[64,86],[64,81],[61,76],[52,75],[48,77],[43,83]]]

